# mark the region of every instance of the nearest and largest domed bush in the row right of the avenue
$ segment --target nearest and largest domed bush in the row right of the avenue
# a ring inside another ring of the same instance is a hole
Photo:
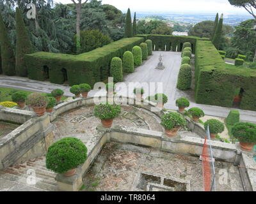
[[[179,71],[177,88],[186,91],[191,88],[192,71],[189,64],[182,64]]]

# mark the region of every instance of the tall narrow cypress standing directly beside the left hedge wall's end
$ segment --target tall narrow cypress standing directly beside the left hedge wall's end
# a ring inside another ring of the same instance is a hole
[[[20,13],[19,8],[16,8],[16,75],[20,77],[27,77],[28,71],[24,61],[25,54],[33,52],[31,41],[29,40],[26,27]]]

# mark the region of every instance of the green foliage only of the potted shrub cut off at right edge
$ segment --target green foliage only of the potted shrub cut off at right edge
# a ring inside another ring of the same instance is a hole
[[[231,133],[239,142],[256,143],[256,124],[237,122],[231,129]]]

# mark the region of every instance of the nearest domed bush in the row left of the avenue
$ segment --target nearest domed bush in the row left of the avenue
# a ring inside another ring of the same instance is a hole
[[[123,81],[123,64],[122,59],[119,57],[113,57],[110,66],[110,74],[111,77],[114,78],[114,82],[122,82]]]

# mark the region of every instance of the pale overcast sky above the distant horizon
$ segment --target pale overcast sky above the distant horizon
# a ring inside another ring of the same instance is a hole
[[[72,3],[71,0],[54,0],[58,3]],[[84,1],[84,0],[83,0]],[[243,8],[231,6],[228,0],[103,0],[103,4],[111,4],[119,10],[126,11],[200,11],[247,14]]]

